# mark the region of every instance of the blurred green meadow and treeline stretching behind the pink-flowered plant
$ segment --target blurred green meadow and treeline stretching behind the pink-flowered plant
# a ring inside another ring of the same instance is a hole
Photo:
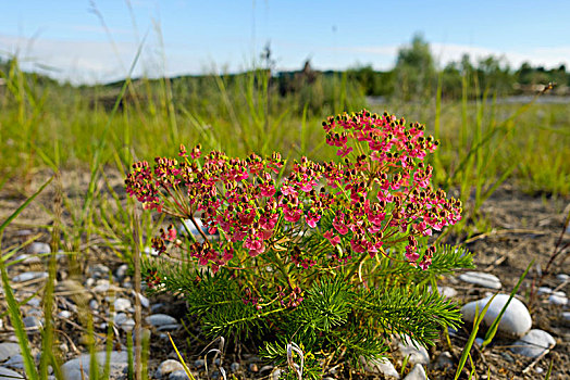
[[[103,135],[101,163],[123,168],[173,155],[179,143],[330,160],[321,121],[367,107],[425,124],[442,140],[433,162],[438,186],[500,179],[531,193],[570,193],[566,67],[513,71],[493,56],[472,63],[466,55],[436,69],[420,36],[388,72],[318,72],[307,61],[298,72],[277,73],[268,46],[247,72],[128,79],[124,94],[124,81],[59,84],[22,72],[16,58],[1,62],[0,77],[0,186],[46,166],[87,168]],[[554,90],[524,106],[549,83]]]

